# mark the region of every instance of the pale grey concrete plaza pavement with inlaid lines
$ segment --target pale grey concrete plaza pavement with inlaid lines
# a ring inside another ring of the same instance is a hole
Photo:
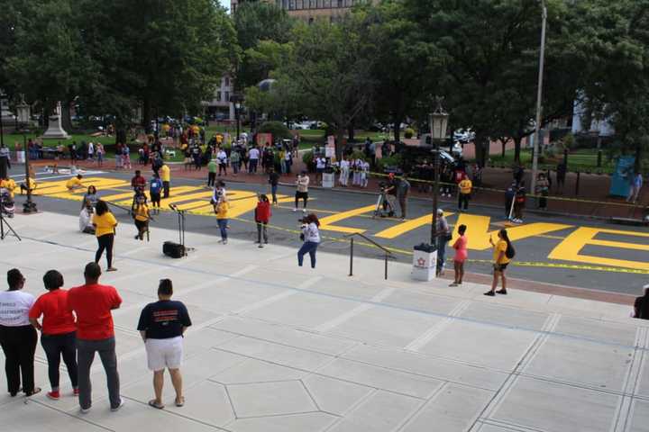
[[[50,268],[67,287],[81,284],[96,239],[78,233],[77,218],[42,212],[11,223],[24,237],[0,242],[0,272],[20,268],[35,295]],[[0,395],[3,430],[649,430],[649,323],[630,319],[628,306],[516,290],[487,298],[484,285],[413,282],[403,263],[390,263],[383,281],[382,263],[362,257],[348,277],[348,257],[338,254],[319,253],[312,270],[297,267],[295,247],[224,246],[198,233],[187,233],[196,250],[173,260],[161,242],[177,233],[155,234],[140,242],[133,227],[118,227],[119,271],[101,280],[123,296],[114,311],[123,409],[109,410],[98,359],[88,414],[64,371],[65,396],[48,400],[38,347],[43,392],[29,401]],[[167,408],[153,410],[135,328],[163,277],[194,326],[185,338],[187,403],[173,406],[166,378]]]

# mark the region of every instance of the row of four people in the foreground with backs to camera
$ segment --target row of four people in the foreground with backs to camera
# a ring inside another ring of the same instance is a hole
[[[79,410],[92,408],[90,368],[96,354],[104,366],[110,409],[122,408],[118,361],[115,351],[113,311],[122,298],[111,285],[100,284],[101,268],[94,262],[84,269],[85,284],[63,289],[64,279],[57,270],[42,277],[46,293],[38,299],[24,293],[26,280],[20,270],[7,272],[8,290],[0,292],[0,345],[5,353],[7,391],[26,396],[41,392],[34,377],[34,356],[41,333],[41,346],[48,361],[50,392],[47,397],[59,401],[67,392],[60,385],[61,359],[69,375],[69,395],[78,398]],[[191,326],[187,307],[171,300],[173,284],[160,280],[158,301],[147,304],[137,324],[133,323],[144,343],[147,365],[153,372],[154,398],[149,405],[164,408],[162,388],[164,372],[169,370],[176,392],[175,405],[182,407],[185,398],[180,366],[183,359],[183,335]]]

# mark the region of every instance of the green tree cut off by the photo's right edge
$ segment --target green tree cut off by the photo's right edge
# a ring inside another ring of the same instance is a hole
[[[590,120],[608,119],[623,151],[640,169],[649,139],[649,0],[575,5],[585,29],[577,48],[587,79],[583,103]]]

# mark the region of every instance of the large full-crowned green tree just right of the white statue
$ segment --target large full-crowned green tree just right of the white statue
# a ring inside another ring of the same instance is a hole
[[[75,1],[101,70],[84,100],[90,111],[114,113],[121,129],[138,106],[147,128],[156,113],[199,112],[238,59],[233,24],[214,0]]]

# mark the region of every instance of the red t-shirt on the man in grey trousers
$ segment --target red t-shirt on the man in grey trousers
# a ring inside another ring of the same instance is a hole
[[[77,338],[100,340],[114,337],[111,311],[122,304],[114,286],[81,285],[68,293],[68,309],[77,314]]]

